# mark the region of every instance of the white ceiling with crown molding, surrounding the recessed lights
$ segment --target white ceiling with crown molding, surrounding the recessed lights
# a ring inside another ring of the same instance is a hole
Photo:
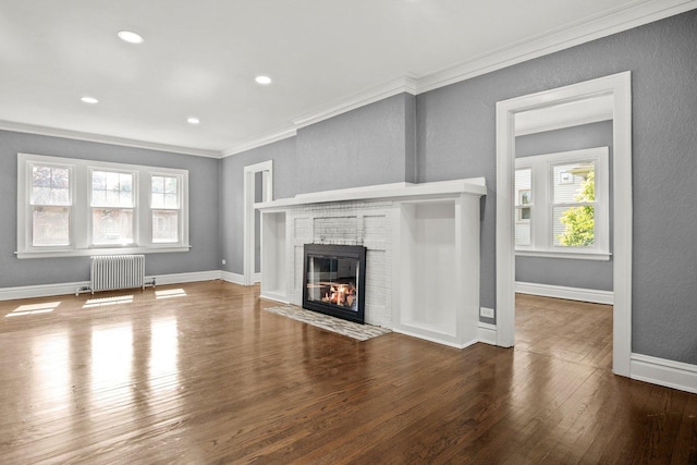
[[[223,156],[695,0],[2,0],[0,129]],[[131,45],[120,29],[142,34]],[[270,86],[254,82],[258,74]],[[83,103],[82,96],[99,99]],[[199,125],[186,123],[188,117]]]

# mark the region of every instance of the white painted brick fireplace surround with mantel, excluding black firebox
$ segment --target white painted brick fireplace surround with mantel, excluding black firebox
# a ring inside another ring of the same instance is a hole
[[[484,178],[396,183],[255,204],[261,297],[302,305],[305,244],[363,245],[366,322],[465,347],[479,323]]]

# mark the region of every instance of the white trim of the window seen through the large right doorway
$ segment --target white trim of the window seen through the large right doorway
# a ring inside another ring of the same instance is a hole
[[[515,159],[515,169],[530,169],[533,178],[531,245],[515,246],[519,257],[570,258],[608,261],[610,253],[610,162],[608,147],[594,147]],[[596,163],[596,241],[591,247],[555,247],[550,225],[553,205],[552,176],[555,164],[576,161]],[[538,181],[536,181],[538,180]],[[539,180],[542,180],[541,182]],[[600,200],[598,200],[600,199]]]

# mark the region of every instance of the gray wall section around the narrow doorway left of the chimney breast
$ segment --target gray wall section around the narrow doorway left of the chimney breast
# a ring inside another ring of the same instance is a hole
[[[224,271],[244,272],[244,167],[273,160],[273,198],[293,197],[298,183],[295,139],[290,137],[221,160],[220,257],[227,264],[220,267]]]

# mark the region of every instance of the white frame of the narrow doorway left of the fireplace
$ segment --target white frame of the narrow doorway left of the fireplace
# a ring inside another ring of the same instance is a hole
[[[254,198],[255,198],[255,176],[261,172],[262,179],[262,201],[273,200],[273,160],[244,167],[244,285],[252,285],[255,282],[254,272],[254,248],[255,221],[254,221]]]

